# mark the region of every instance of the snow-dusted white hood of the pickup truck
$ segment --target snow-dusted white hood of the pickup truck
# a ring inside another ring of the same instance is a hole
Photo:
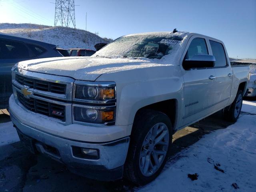
[[[33,72],[69,76],[76,80],[94,81],[104,73],[162,65],[146,59],[60,57],[22,61],[18,62],[16,67]]]

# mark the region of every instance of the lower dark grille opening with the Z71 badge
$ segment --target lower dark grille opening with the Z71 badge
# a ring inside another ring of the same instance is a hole
[[[25,98],[17,92],[18,101],[28,110],[65,121],[65,106],[36,98]]]

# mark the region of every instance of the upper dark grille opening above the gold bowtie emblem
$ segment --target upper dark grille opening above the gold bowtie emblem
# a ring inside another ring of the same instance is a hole
[[[66,94],[66,84],[47,82],[16,74],[15,80],[21,84],[40,91]]]

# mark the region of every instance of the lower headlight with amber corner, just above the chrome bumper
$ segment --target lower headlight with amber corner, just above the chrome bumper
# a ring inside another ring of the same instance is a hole
[[[88,106],[74,106],[75,121],[104,124],[114,122],[114,118],[114,108],[88,108]]]

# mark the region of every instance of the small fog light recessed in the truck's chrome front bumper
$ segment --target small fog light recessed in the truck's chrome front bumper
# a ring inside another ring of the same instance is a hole
[[[83,159],[99,159],[99,150],[98,149],[89,149],[72,146],[73,155],[78,158]]]

